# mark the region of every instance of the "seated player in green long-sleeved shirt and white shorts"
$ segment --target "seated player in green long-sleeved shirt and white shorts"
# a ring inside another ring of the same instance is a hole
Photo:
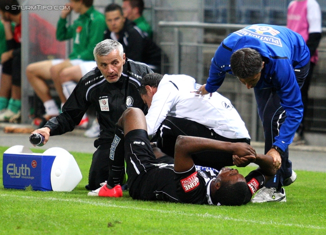
[[[40,127],[43,127],[51,117],[60,113],[45,80],[53,80],[63,105],[74,89],[75,82],[78,82],[83,75],[96,66],[93,49],[98,42],[103,40],[103,32],[106,28],[104,16],[94,9],[93,0],[70,0],[66,6],[69,8],[62,10],[58,21],[57,39],[59,41],[73,39],[69,59],[41,61],[30,64],[26,68],[27,78],[45,107],[45,115],[42,117],[43,121],[40,123]],[[66,18],[72,10],[80,15],[71,25],[67,26]],[[71,82],[71,77],[75,82]],[[64,79],[69,83],[63,87],[61,81]],[[88,117],[84,116],[80,126],[86,127],[87,124]]]

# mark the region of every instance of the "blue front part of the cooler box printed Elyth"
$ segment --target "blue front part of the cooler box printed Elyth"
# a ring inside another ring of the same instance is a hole
[[[4,154],[3,180],[5,188],[52,191],[51,167],[56,156],[42,154]]]

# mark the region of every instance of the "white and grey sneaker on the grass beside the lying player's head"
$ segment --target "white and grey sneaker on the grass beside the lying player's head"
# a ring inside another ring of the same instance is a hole
[[[276,188],[261,188],[251,202],[267,202],[267,201],[283,201],[286,202],[285,190],[282,188],[281,192],[278,192]]]

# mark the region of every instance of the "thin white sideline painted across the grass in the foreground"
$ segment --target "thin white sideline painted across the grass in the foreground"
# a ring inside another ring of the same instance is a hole
[[[137,208],[137,207],[127,207],[124,205],[115,205],[115,204],[108,204],[103,202],[94,202],[94,201],[87,201],[82,199],[63,199],[63,198],[56,198],[56,197],[32,197],[32,196],[17,196],[11,194],[0,194],[2,197],[19,197],[24,199],[33,199],[33,200],[43,200],[43,201],[68,201],[68,202],[80,202],[84,204],[91,204],[91,205],[98,205],[100,207],[112,207],[112,208],[121,208],[121,209],[132,209],[138,211],[153,211],[158,213],[166,213],[166,214],[178,214],[178,215],[185,215],[189,217],[197,216],[197,217],[209,217],[209,218],[216,218],[216,219],[223,219],[223,220],[231,220],[231,221],[239,221],[239,222],[246,222],[246,223],[254,223],[254,224],[262,224],[262,225],[276,225],[276,226],[289,226],[289,227],[298,227],[298,228],[313,228],[313,229],[326,229],[326,227],[314,226],[314,225],[302,225],[302,224],[288,224],[288,223],[278,223],[273,221],[257,221],[257,220],[246,220],[246,219],[235,219],[230,218],[223,215],[210,215],[208,213],[205,214],[192,214],[192,213],[184,213],[184,212],[176,212],[176,211],[164,211],[164,210],[156,210],[150,208]]]

